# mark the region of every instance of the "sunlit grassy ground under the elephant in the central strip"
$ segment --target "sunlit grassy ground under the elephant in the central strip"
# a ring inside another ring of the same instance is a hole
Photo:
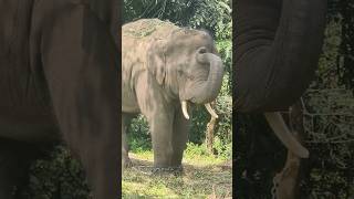
[[[153,153],[129,154],[133,168],[123,170],[123,198],[231,198],[231,160],[185,153],[181,176],[150,174]]]

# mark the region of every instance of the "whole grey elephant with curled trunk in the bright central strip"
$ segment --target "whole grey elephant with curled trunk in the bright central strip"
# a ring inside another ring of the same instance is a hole
[[[201,30],[179,28],[158,19],[122,27],[122,165],[132,166],[126,128],[146,116],[153,143],[153,171],[183,171],[188,139],[189,105],[210,106],[223,76],[212,38]]]

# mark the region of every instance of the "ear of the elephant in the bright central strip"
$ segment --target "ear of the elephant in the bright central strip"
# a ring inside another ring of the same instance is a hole
[[[166,42],[154,41],[147,52],[147,69],[156,77],[158,84],[163,84],[166,76]]]

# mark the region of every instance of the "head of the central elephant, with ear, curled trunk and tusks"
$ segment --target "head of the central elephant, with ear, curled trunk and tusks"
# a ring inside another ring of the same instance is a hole
[[[181,102],[205,104],[208,112],[221,87],[223,66],[212,38],[205,31],[177,29],[167,39],[156,40],[148,51],[148,69],[169,96]]]

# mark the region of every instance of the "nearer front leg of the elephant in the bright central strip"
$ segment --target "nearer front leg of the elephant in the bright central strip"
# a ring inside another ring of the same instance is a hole
[[[175,108],[164,96],[164,90],[147,73],[137,78],[136,96],[143,115],[146,116],[153,139],[154,167],[174,167],[173,125]],[[179,165],[178,165],[179,166]]]

